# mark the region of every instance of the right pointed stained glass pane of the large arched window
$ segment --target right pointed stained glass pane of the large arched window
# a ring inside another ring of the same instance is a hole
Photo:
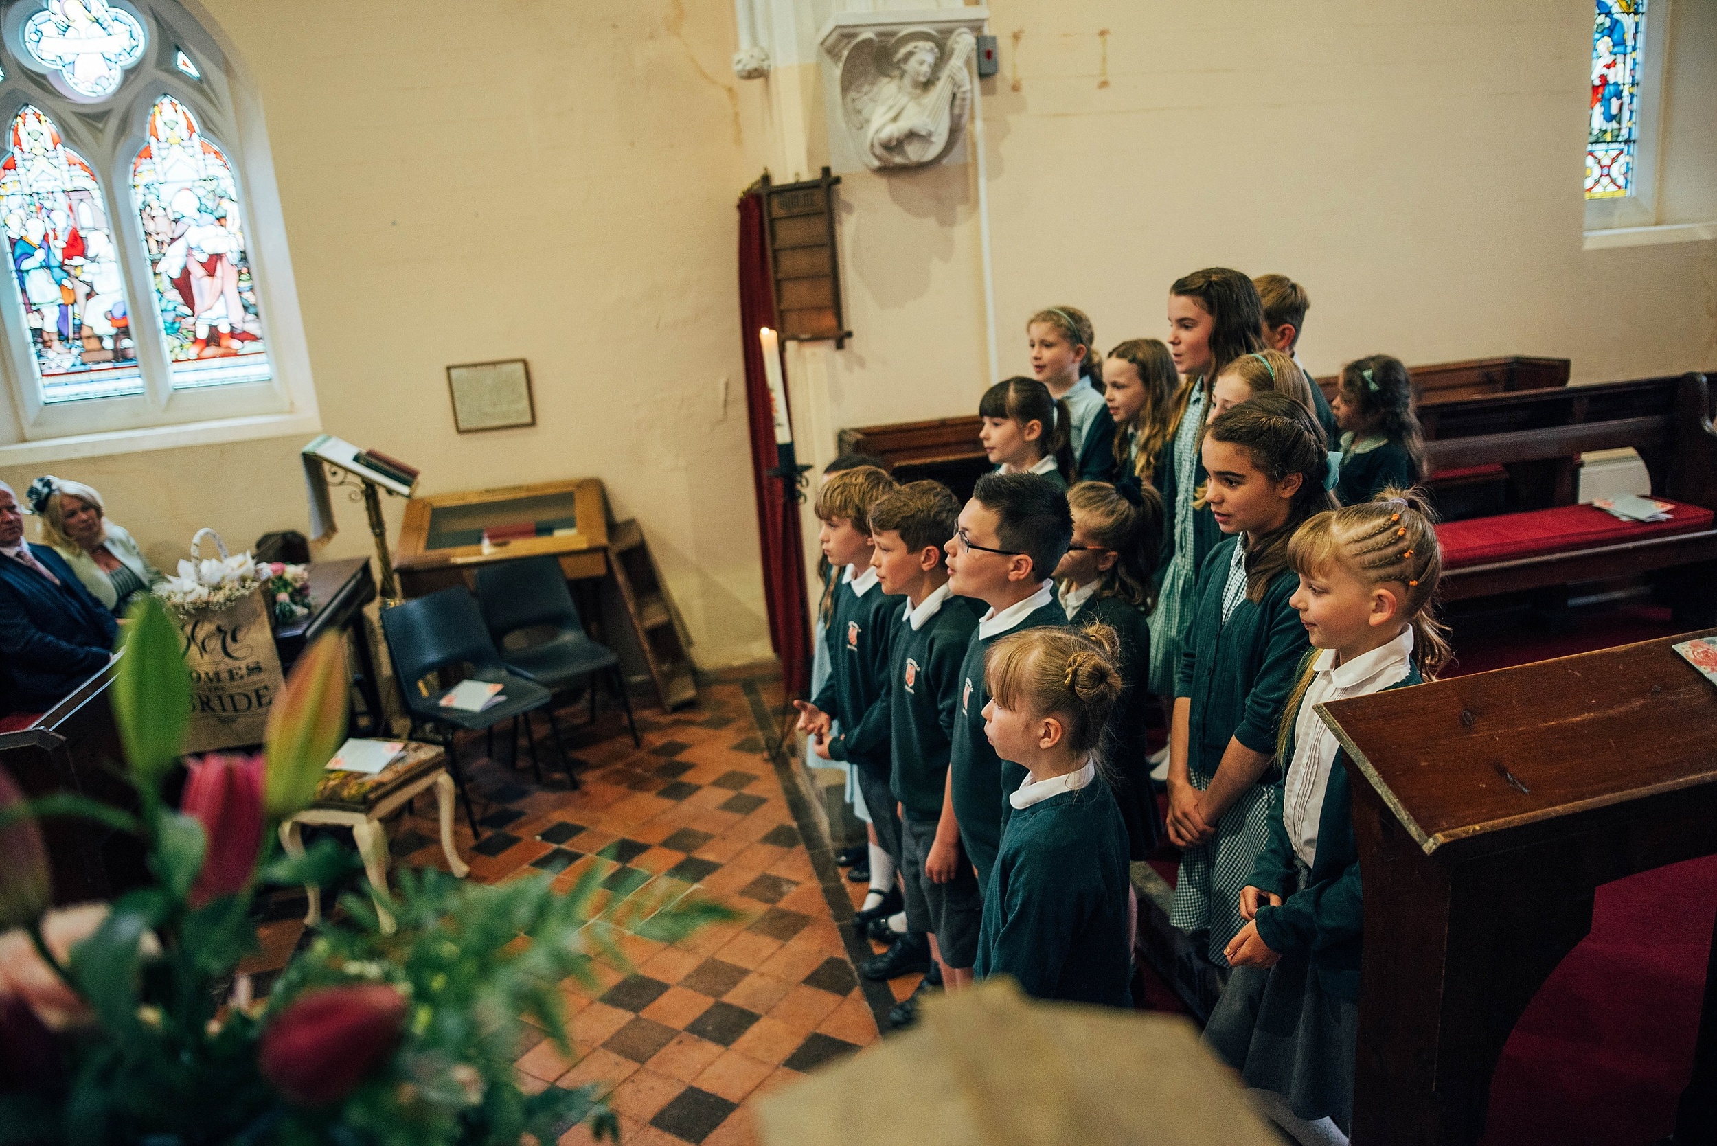
[[[173,389],[270,377],[256,281],[227,156],[161,96],[130,173]]]

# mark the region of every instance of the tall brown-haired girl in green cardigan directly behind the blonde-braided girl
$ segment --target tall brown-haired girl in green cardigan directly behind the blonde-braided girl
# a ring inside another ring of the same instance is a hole
[[[1205,498],[1228,540],[1210,551],[1192,599],[1169,724],[1169,841],[1181,847],[1169,921],[1207,932],[1228,968],[1245,920],[1240,892],[1269,841],[1276,729],[1307,648],[1291,604],[1288,542],[1336,506],[1324,489],[1324,431],[1284,395],[1257,395],[1204,434]],[[1152,633],[1152,640],[1156,633]]]

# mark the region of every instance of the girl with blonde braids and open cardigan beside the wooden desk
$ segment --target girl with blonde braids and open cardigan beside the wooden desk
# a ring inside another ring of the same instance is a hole
[[[1432,679],[1449,643],[1432,616],[1442,559],[1420,491],[1314,516],[1288,542],[1288,568],[1312,650],[1277,734],[1288,777],[1240,894],[1235,973],[1205,1038],[1289,1134],[1327,1143],[1346,1141],[1353,1115],[1363,916],[1348,770],[1315,710]]]

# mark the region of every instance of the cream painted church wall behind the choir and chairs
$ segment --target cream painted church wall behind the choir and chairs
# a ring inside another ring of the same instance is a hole
[[[424,465],[426,492],[601,477],[699,662],[766,655],[733,197],[764,165],[828,161],[831,3],[766,5],[785,38],[766,81],[728,69],[730,0],[419,0],[407,22],[206,3],[268,115],[325,427]],[[1032,311],[1082,305],[1104,347],[1161,335],[1168,285],[1209,264],[1303,281],[1317,372],[1379,350],[1559,355],[1578,381],[1717,369],[1717,242],[1581,249],[1583,0],[994,0],[991,29],[999,374],[1025,365]],[[1714,36],[1717,0],[1674,0],[1664,221],[1717,218]],[[855,338],[790,348],[804,461],[843,425],[968,413],[994,381],[965,146],[845,173]],[[531,360],[537,427],[455,434],[443,367],[503,357]],[[55,470],[165,559],[199,525],[302,528],[300,444]],[[338,513],[330,552],[366,552],[361,510]]]

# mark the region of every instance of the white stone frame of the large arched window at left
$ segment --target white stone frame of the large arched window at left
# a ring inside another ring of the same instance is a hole
[[[143,22],[144,58],[106,100],[65,94],[27,55],[19,33],[34,3],[14,5],[0,24],[5,81],[0,124],[10,125],[31,103],[58,127],[65,146],[101,180],[113,220],[115,247],[132,312],[132,340],[144,393],[122,398],[43,403],[29,331],[7,268],[0,302],[0,465],[36,465],[191,444],[309,436],[321,431],[309,347],[299,312],[287,228],[275,189],[275,166],[261,100],[232,45],[194,0],[110,0]],[[191,79],[175,58],[185,51],[203,72]],[[273,377],[266,383],[173,389],[143,228],[130,196],[130,170],[148,139],[149,110],[170,94],[225,153],[239,184],[247,254],[256,283],[263,340]],[[9,149],[9,141],[5,148]]]

